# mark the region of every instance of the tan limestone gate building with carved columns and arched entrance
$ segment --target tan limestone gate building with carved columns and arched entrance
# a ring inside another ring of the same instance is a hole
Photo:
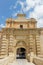
[[[12,53],[15,59],[27,58],[31,52],[43,56],[43,28],[37,28],[36,19],[26,19],[25,14],[8,18],[0,31],[0,58]]]

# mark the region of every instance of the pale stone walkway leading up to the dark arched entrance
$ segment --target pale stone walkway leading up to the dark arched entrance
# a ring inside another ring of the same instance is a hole
[[[16,59],[13,63],[9,63],[9,65],[35,65],[33,63],[28,62],[26,59]]]

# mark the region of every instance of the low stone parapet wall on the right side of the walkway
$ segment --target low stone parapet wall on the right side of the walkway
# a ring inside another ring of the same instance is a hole
[[[28,62],[31,62],[31,63],[34,63],[35,65],[43,65],[43,58],[40,58],[36,55],[34,55],[33,52],[31,52],[29,55],[28,55]]]

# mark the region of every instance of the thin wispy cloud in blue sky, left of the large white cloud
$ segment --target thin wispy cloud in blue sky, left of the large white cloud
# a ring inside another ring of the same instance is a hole
[[[20,10],[18,9],[16,11],[16,8],[18,7],[18,5],[20,5],[21,8],[20,8]],[[15,5],[11,5],[10,6],[10,9],[13,10],[11,16],[12,17],[16,17],[18,13],[23,13],[23,8],[24,8],[24,2],[18,0]]]

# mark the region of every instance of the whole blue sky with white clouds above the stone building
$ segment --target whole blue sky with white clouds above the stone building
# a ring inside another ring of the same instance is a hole
[[[0,0],[0,28],[7,18],[16,18],[18,13],[26,18],[35,18],[37,27],[43,27],[43,0]]]

